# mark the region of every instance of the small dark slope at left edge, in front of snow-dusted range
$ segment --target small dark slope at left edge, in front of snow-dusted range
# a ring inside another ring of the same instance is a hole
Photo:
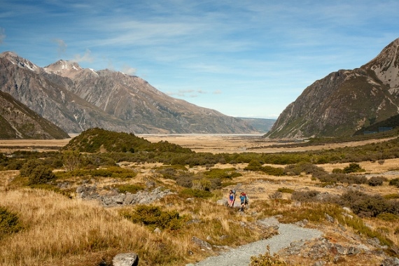
[[[69,135],[0,91],[0,139],[67,139]]]

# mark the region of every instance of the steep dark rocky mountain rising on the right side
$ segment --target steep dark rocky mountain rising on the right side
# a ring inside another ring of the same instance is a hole
[[[398,110],[399,38],[360,68],[316,80],[286,107],[265,137],[351,136]]]

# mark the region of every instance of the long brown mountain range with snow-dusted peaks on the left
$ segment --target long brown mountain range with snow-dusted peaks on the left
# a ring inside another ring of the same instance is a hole
[[[255,131],[238,118],[169,97],[137,76],[64,60],[41,68],[3,52],[0,90],[69,133],[93,127],[137,134]]]

